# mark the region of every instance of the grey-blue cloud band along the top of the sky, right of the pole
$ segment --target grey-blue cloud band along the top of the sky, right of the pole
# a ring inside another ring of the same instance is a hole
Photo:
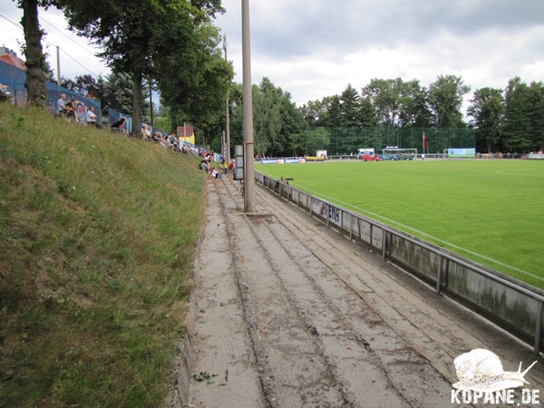
[[[277,17],[252,15],[252,44],[279,59],[323,50],[396,48],[447,32],[471,37],[486,30],[518,31],[542,24],[544,2],[399,0],[293,1]]]

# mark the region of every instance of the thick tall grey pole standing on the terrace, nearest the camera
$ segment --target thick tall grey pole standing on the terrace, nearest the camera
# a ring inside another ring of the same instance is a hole
[[[253,180],[253,98],[251,95],[251,45],[249,41],[249,0],[242,0],[242,67],[243,67],[243,126],[246,154],[246,179],[244,180],[244,212],[255,212],[255,180]]]

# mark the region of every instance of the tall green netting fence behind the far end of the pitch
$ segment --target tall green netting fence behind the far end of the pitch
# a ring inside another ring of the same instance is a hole
[[[356,153],[357,149],[417,149],[423,152],[423,133],[428,153],[442,153],[448,148],[474,148],[475,131],[469,128],[314,128],[305,131],[306,153],[328,151],[328,156]]]

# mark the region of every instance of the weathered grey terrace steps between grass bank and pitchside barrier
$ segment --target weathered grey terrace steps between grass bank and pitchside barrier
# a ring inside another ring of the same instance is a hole
[[[190,340],[194,372],[218,375],[190,382],[190,405],[451,407],[456,356],[487,348],[506,371],[534,361],[526,345],[266,190],[256,191],[265,219],[243,214],[229,178],[207,189]],[[526,376],[532,388],[544,388],[539,365]]]

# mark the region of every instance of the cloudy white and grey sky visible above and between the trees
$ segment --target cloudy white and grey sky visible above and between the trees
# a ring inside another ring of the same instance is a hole
[[[0,15],[15,23],[22,11],[3,1]],[[249,0],[252,80],[262,77],[290,92],[298,106],[341,93],[348,83],[360,91],[372,78],[418,79],[461,75],[472,92],[522,81],[544,81],[543,0]],[[227,13],[216,24],[228,35],[228,59],[242,81],[241,1],[223,0]],[[41,13],[45,40],[60,45],[92,73],[108,73],[92,46],[66,30],[60,12]],[[54,24],[82,47],[53,29]],[[0,17],[0,44],[15,49],[22,29]],[[56,48],[51,47],[56,67]],[[61,72],[88,73],[61,53]]]

